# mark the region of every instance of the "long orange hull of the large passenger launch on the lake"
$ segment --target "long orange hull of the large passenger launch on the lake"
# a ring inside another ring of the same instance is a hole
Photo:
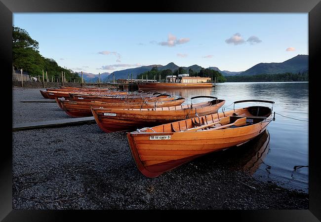
[[[212,83],[174,83],[174,82],[138,82],[138,88],[145,89],[163,89],[163,88],[209,88]]]

